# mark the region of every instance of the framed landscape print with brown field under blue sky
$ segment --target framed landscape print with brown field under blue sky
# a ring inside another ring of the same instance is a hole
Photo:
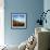
[[[26,13],[11,13],[11,28],[26,28],[27,14]]]

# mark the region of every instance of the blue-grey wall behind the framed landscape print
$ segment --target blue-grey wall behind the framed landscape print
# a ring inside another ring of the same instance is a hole
[[[4,42],[20,45],[35,32],[38,15],[43,11],[43,0],[4,0]],[[11,29],[11,12],[27,13],[26,29]]]

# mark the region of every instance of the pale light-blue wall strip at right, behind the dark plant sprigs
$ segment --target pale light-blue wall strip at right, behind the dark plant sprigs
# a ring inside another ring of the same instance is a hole
[[[45,12],[47,11],[47,10],[50,10],[50,0],[45,0],[43,1],[43,10],[45,10]],[[49,28],[50,29],[50,11],[47,13],[47,16],[46,16],[46,18],[47,18],[47,24],[45,23],[43,24],[43,27],[46,27],[46,28]]]

